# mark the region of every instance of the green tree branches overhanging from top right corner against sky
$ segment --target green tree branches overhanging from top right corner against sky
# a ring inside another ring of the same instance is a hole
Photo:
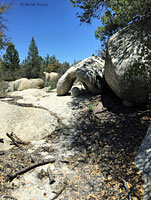
[[[95,31],[97,39],[106,43],[109,36],[127,24],[151,17],[150,0],[70,0],[74,7],[83,11],[78,15],[81,22],[91,23],[100,18],[102,26]],[[104,13],[104,14],[102,14]]]

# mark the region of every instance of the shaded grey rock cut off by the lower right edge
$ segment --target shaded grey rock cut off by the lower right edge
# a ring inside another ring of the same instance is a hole
[[[151,199],[151,125],[142,142],[135,159],[135,164],[144,177],[145,195],[144,200]]]

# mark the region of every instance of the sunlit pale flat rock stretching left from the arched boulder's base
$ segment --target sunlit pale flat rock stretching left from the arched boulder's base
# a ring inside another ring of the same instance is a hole
[[[66,125],[73,125],[74,121],[74,97],[57,96],[56,90],[51,92],[45,92],[40,89],[27,89],[24,91],[12,92],[11,96],[19,96],[22,99],[17,100],[17,103],[33,104],[34,106],[43,107],[52,113],[55,113],[58,118],[62,120],[62,123]],[[79,98],[80,103],[80,98]]]

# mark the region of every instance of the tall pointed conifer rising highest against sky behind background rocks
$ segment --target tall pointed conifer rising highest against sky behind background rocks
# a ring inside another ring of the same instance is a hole
[[[39,78],[42,73],[42,58],[38,55],[36,42],[32,37],[29,45],[28,56],[23,61],[23,71],[26,78]]]

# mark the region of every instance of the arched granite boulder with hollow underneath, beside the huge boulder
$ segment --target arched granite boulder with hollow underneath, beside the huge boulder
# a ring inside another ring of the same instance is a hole
[[[70,67],[59,79],[57,94],[66,95],[72,88],[76,79],[91,93],[100,94],[102,91],[104,75],[104,60],[101,57],[92,56]]]

